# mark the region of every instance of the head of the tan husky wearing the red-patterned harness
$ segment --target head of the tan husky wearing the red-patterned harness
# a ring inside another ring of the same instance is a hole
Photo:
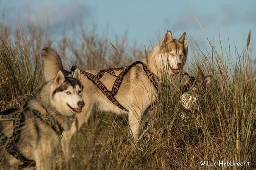
[[[186,32],[179,39],[173,39],[172,32],[167,31],[153,51],[157,67],[168,68],[170,75],[178,74],[188,55]]]

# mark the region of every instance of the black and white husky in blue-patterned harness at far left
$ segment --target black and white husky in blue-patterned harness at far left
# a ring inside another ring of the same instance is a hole
[[[85,105],[82,91],[78,68],[69,77],[59,70],[23,107],[0,112],[0,167],[52,169],[70,117]]]

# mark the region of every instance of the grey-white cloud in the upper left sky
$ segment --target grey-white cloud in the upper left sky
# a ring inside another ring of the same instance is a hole
[[[17,5],[5,8],[5,19],[11,26],[16,27],[18,21],[22,28],[26,28],[29,23],[32,26],[49,26],[50,31],[69,29],[90,15],[89,6],[76,2],[57,4],[46,1],[30,6]]]

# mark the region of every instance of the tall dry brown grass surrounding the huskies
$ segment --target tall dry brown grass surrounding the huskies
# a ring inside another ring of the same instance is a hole
[[[95,30],[81,28],[72,38],[63,35],[55,42],[38,28],[29,28],[29,35],[19,29],[0,27],[0,109],[21,106],[34,95],[43,82],[39,51],[44,46],[54,47],[68,70],[71,63],[81,70],[117,67],[141,59],[144,53],[129,49],[125,37],[118,38],[114,47]],[[77,41],[79,39],[79,41]],[[190,121],[183,123],[180,115],[179,92],[174,85],[159,89],[157,103],[151,108],[151,126],[138,144],[131,142],[126,115],[97,113],[89,118],[73,137],[71,169],[256,169],[256,96],[255,76],[251,63],[250,38],[236,62],[211,46],[206,52],[194,50],[198,62],[190,63],[197,76],[197,65],[212,80],[204,94],[203,104],[194,110],[201,116],[201,128],[196,128],[191,113]],[[71,52],[71,55],[66,55]],[[67,58],[66,58],[67,57]],[[188,56],[192,57],[192,56]],[[200,89],[201,86],[198,87]],[[145,127],[144,127],[145,128]],[[249,161],[248,166],[207,166],[210,162]],[[65,160],[64,160],[65,161]],[[63,169],[58,163],[55,169]]]

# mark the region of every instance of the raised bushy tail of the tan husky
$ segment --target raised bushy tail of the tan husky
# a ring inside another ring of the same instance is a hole
[[[62,60],[54,49],[45,47],[41,50],[41,57],[44,63],[44,78],[46,82],[54,79],[59,70],[66,74],[67,71],[63,69]]]

